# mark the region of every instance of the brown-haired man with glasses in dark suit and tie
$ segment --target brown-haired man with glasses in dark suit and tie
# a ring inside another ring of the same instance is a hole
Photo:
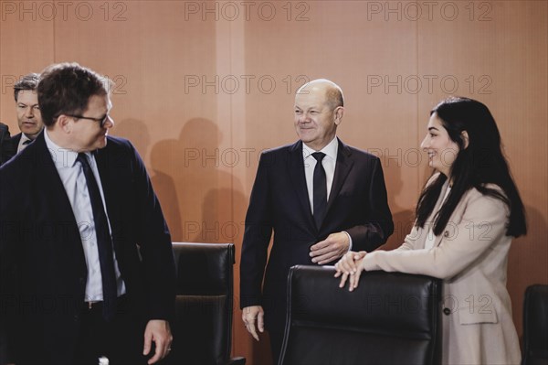
[[[0,167],[0,365],[169,354],[171,237],[140,156],[109,136],[111,81],[44,70],[44,133]]]

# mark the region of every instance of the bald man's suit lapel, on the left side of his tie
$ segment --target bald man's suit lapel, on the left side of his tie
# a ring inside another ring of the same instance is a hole
[[[292,186],[295,188],[299,199],[300,208],[306,212],[306,221],[311,227],[315,227],[311,211],[311,202],[309,201],[308,188],[306,188],[306,177],[304,176],[304,161],[302,158],[302,142],[298,141],[290,146],[288,172]]]

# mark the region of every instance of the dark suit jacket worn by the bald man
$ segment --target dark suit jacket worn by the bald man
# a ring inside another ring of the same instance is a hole
[[[271,232],[274,242],[267,264]],[[327,213],[316,229],[304,175],[302,142],[264,152],[246,216],[240,306],[263,306],[267,326],[285,324],[290,267],[311,262],[311,245],[347,231],[353,251],[373,251],[394,231],[379,159],[339,141]],[[264,290],[261,284],[264,277]]]

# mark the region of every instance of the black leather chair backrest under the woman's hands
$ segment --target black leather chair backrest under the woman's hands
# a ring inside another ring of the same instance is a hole
[[[437,364],[441,281],[365,272],[353,292],[332,266],[293,266],[279,364]]]

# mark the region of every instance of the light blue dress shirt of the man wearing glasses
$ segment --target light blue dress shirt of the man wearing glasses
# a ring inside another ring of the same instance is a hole
[[[77,221],[81,244],[86,256],[86,265],[88,266],[88,281],[86,282],[86,302],[96,302],[103,299],[102,295],[102,278],[100,274],[99,250],[97,248],[97,233],[95,231],[95,223],[93,220],[93,210],[91,209],[90,192],[86,183],[86,177],[82,166],[76,162],[78,153],[56,145],[47,135],[47,130],[44,130],[44,138],[46,139],[47,149],[53,158],[55,166],[58,170],[59,177],[63,182],[63,187],[67,192],[68,201],[72,207],[74,218]],[[106,210],[105,197],[100,184],[99,170],[95,157],[89,152],[86,153],[88,162],[90,162],[91,171],[97,180],[99,186],[100,198],[103,202],[103,207]],[[109,231],[111,231],[111,222],[109,222]],[[112,233],[112,231],[111,231]],[[116,282],[118,295],[125,293],[125,284],[121,280],[118,262],[116,261],[116,252],[113,252],[114,271],[116,274]]]

